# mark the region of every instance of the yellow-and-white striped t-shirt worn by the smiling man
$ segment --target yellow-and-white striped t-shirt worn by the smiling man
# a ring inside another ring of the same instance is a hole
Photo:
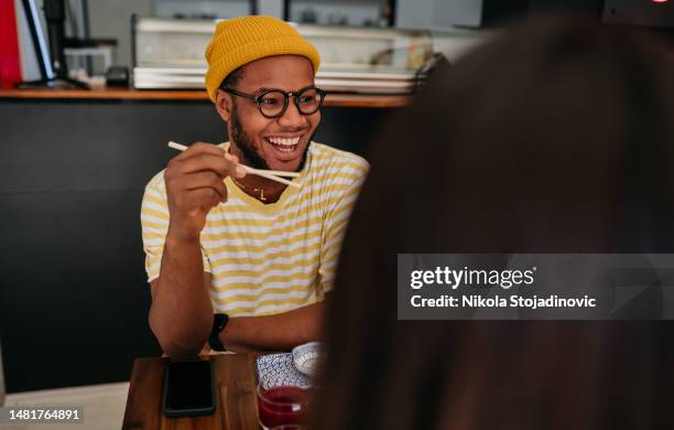
[[[271,204],[249,196],[227,178],[227,202],[208,213],[200,236],[215,311],[273,314],[323,300],[368,168],[358,155],[312,142],[295,180],[302,187],[286,187]],[[152,281],[160,273],[168,227],[163,171],[145,187],[141,223]]]

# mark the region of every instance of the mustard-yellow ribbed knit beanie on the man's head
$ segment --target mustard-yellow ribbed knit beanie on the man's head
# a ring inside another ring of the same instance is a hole
[[[220,21],[206,46],[206,90],[215,103],[222,79],[238,67],[272,55],[307,57],[318,71],[318,51],[292,25],[273,17],[250,15]]]

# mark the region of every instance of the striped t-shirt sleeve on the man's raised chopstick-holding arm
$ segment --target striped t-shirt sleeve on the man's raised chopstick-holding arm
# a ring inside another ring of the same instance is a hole
[[[145,251],[145,272],[148,282],[160,275],[162,254],[168,230],[168,205],[166,203],[166,186],[164,172],[155,175],[145,186],[143,203],[141,205],[141,226],[143,250]],[[210,272],[210,262],[202,248],[204,271]]]

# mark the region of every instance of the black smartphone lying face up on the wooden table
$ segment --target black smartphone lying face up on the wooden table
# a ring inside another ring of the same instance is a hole
[[[164,415],[193,417],[215,411],[211,361],[172,362],[164,377]]]

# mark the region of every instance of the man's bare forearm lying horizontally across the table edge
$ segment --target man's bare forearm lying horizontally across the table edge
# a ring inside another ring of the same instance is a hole
[[[233,352],[290,351],[322,337],[325,301],[267,316],[231,318],[220,341]]]

